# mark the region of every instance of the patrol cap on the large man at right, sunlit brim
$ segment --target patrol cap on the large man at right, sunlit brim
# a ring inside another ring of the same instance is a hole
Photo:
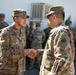
[[[49,10],[49,13],[46,16],[48,18],[51,14],[61,13],[62,11],[64,11],[64,7],[62,7],[62,6],[51,7]]]

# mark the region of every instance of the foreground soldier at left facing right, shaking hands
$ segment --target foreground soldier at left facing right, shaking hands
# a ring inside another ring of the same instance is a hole
[[[0,75],[24,75],[25,58],[28,50],[25,50],[25,31],[22,29],[26,25],[29,16],[26,11],[16,9],[12,12],[14,23],[4,28],[0,34]]]

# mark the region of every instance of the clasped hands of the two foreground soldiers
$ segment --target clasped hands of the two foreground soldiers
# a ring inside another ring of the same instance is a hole
[[[28,57],[34,59],[37,56],[37,50],[25,49],[24,50],[24,56],[28,56]]]

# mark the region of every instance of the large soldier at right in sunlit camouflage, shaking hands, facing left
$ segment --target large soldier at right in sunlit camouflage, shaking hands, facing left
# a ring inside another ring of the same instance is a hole
[[[64,8],[52,7],[47,14],[52,29],[46,43],[40,67],[40,75],[74,75],[74,40],[64,26]],[[42,51],[37,49],[37,54]]]

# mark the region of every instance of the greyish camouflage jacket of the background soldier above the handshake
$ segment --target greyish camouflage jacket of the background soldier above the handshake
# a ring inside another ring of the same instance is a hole
[[[42,49],[42,42],[45,40],[45,33],[42,30],[32,31],[30,38],[32,40],[31,48]]]

